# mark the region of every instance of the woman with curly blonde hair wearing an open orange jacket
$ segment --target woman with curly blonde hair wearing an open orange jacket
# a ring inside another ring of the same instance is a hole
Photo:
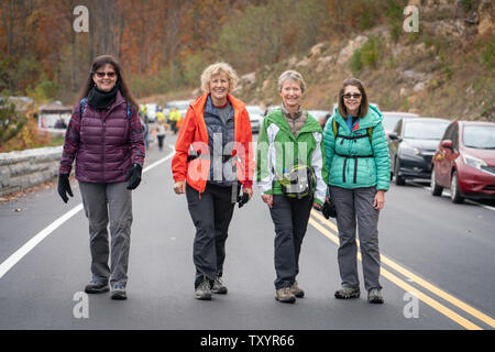
[[[245,103],[229,92],[239,78],[226,63],[208,66],[201,75],[202,96],[189,106],[172,161],[174,190],[186,194],[196,227],[195,295],[211,299],[227,294],[221,277],[226,240],[235,202],[251,199],[254,160],[251,122]],[[239,196],[242,185],[243,195]]]

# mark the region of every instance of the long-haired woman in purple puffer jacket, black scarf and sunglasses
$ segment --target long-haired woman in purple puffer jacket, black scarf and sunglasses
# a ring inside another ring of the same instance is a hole
[[[98,56],[79,95],[62,154],[58,194],[73,197],[69,174],[76,160],[76,179],[89,220],[92,280],[88,294],[108,292],[127,299],[132,196],[141,182],[144,139],[138,103],[110,55]],[[108,223],[111,235],[109,267]]]

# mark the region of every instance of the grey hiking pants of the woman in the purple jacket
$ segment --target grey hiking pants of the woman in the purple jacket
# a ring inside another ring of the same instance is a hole
[[[89,220],[89,249],[94,279],[110,286],[128,282],[129,249],[131,243],[132,194],[129,183],[91,184],[79,182],[82,205]],[[111,237],[111,268],[108,265]]]

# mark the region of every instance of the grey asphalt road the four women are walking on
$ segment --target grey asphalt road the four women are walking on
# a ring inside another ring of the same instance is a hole
[[[340,286],[337,228],[315,211],[298,276],[306,297],[294,305],[277,302],[274,228],[257,190],[244,208],[235,208],[230,227],[229,294],[195,299],[195,229],[185,196],[173,191],[174,142],[167,135],[163,152],[151,145],[148,168],[133,194],[125,301],[109,294],[80,296],[90,280],[90,258],[77,183],[67,205],[54,188],[0,205],[0,329],[495,328],[495,208],[453,205],[418,184],[392,185],[381,212],[384,305],[370,305],[364,287],[360,299],[333,298]],[[72,217],[61,219],[70,210]]]

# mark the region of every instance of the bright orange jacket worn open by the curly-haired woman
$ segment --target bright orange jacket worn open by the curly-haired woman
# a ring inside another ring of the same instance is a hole
[[[200,194],[205,191],[210,170],[208,131],[204,117],[207,99],[208,92],[197,98],[187,109],[175,143],[175,155],[172,160],[174,180],[186,180]],[[238,179],[243,188],[252,188],[255,162],[250,117],[244,102],[229,94],[227,99],[234,109],[234,147],[232,155],[237,156],[233,160],[237,165]],[[199,157],[188,161],[191,150],[196,151]]]

